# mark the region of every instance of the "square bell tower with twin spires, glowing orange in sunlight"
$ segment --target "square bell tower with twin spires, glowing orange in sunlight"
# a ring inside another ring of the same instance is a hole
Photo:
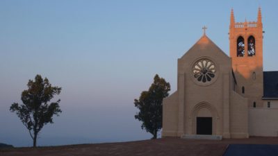
[[[236,92],[248,98],[250,107],[263,107],[263,24],[261,8],[257,21],[236,22],[231,9],[229,44]]]

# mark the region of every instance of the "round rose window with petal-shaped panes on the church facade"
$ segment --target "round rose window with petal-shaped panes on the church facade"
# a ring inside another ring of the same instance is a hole
[[[193,75],[199,82],[210,82],[215,77],[215,64],[207,59],[198,60],[193,66]]]

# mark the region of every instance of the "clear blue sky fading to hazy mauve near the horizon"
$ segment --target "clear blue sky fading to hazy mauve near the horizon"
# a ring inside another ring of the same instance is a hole
[[[229,55],[229,17],[263,17],[263,69],[277,71],[278,1],[0,1],[0,142],[32,146],[12,103],[40,74],[63,111],[38,146],[150,139],[133,101],[156,73],[177,89],[177,59],[206,35]]]

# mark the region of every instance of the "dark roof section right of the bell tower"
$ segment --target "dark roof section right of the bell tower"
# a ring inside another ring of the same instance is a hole
[[[263,99],[278,99],[278,71],[263,71]]]

